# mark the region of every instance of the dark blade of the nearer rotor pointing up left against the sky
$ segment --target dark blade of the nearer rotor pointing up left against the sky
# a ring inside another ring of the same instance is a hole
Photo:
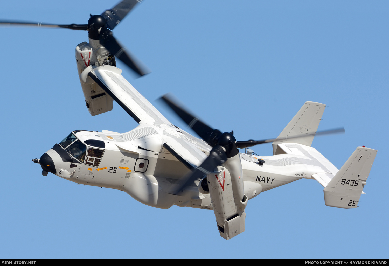
[[[215,137],[221,135],[221,132],[218,129],[213,129],[203,121],[195,117],[183,107],[181,107],[177,102],[175,102],[172,97],[168,94],[165,94],[161,97],[172,110],[189,126],[193,129],[205,142],[207,142],[211,147],[214,147],[216,144],[214,142]]]

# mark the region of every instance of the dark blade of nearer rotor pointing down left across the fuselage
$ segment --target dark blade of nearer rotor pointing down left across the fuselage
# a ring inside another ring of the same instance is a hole
[[[225,163],[226,161],[227,161],[227,155],[223,147],[221,147],[220,145],[216,145],[210,151],[207,159],[205,159],[203,163],[200,165],[200,168],[203,168],[207,172],[212,173],[214,172],[217,166],[221,165],[222,163]],[[196,170],[185,180],[184,184],[182,184],[179,188],[175,189],[171,194],[179,195],[179,193],[183,189],[189,186],[196,179],[202,179],[204,175],[206,175],[206,173],[204,173],[199,168],[196,168]]]

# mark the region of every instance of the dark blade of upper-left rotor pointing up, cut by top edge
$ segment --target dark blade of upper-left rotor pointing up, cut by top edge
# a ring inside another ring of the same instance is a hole
[[[107,9],[101,14],[107,20],[107,28],[113,30],[117,24],[142,0],[123,0],[112,9]]]

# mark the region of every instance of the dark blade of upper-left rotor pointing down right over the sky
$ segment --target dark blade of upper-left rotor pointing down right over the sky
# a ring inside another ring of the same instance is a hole
[[[112,32],[106,27],[101,28],[100,31],[100,43],[110,51],[111,54],[120,59],[124,64],[126,64],[129,68],[138,73],[138,75],[143,76],[149,72],[142,69],[135,60],[133,60],[130,55],[124,51],[126,48],[122,47],[119,42],[112,35]]]

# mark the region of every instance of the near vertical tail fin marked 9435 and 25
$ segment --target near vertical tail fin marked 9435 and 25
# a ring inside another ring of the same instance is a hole
[[[357,207],[376,154],[376,150],[357,147],[324,188],[327,206],[345,209]]]

